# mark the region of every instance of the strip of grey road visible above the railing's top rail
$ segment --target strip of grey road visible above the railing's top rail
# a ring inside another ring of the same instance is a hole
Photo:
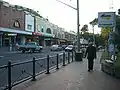
[[[62,53],[63,51],[50,51],[50,47],[44,47],[42,52],[35,52],[35,53],[21,53],[21,52],[5,52],[5,53],[0,53],[0,56],[2,58],[0,59],[0,66],[6,65],[8,61],[10,60],[12,63],[18,63],[18,62],[23,62],[23,61],[28,61],[32,60],[33,57],[36,58],[43,58],[46,57],[47,55],[56,55],[57,53]]]

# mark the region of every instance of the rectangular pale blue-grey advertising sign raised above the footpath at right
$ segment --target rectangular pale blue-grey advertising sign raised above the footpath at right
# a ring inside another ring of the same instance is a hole
[[[99,12],[98,27],[114,27],[116,23],[115,12]]]

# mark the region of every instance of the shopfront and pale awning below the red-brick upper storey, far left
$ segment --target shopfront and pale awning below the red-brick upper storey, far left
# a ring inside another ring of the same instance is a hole
[[[32,36],[32,32],[23,30],[8,29],[0,27],[0,46],[9,46],[10,44],[23,44],[25,37]]]

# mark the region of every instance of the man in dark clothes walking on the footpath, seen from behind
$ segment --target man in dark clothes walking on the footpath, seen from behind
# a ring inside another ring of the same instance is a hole
[[[96,47],[93,46],[93,43],[90,42],[86,52],[85,57],[87,56],[88,59],[88,72],[93,70],[94,59],[96,58]]]

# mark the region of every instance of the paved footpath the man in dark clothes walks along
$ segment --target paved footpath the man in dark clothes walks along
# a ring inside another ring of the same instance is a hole
[[[97,55],[93,72],[87,72],[87,59],[83,59],[49,75],[41,75],[37,81],[22,83],[13,90],[120,90],[120,80],[101,71],[101,52]]]

